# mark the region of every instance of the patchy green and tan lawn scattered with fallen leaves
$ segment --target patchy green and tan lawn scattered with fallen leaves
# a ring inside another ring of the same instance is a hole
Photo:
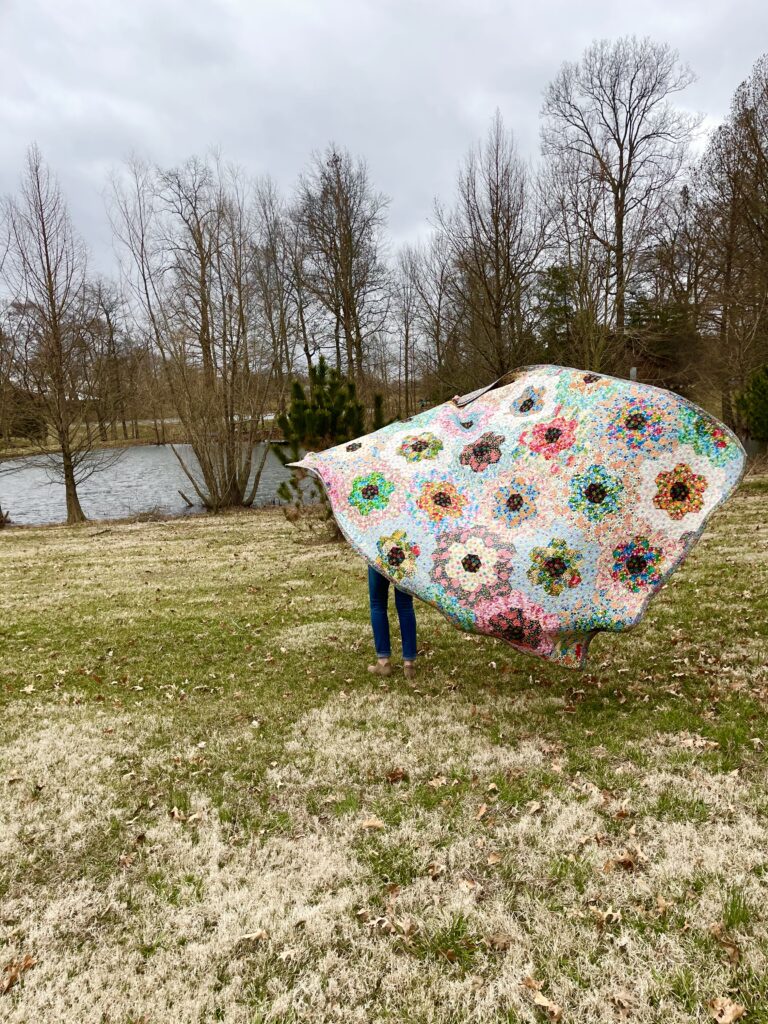
[[[768,482],[584,673],[279,512],[0,534],[9,1024],[768,1022]],[[384,685],[386,684],[386,685]]]

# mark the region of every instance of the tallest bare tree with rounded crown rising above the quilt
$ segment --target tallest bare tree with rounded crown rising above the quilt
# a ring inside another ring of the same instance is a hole
[[[579,182],[578,215],[610,263],[620,335],[634,263],[698,123],[670,100],[692,80],[670,46],[632,37],[592,43],[545,93],[542,148]]]

